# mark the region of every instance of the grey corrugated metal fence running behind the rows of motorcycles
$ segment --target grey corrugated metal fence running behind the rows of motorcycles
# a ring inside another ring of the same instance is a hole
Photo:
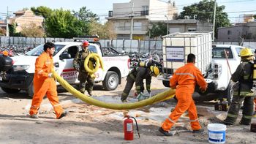
[[[16,47],[31,47],[45,42],[73,42],[74,39],[53,38],[53,37],[0,37],[0,46],[14,45]],[[162,41],[159,40],[137,40],[137,39],[100,39],[102,47],[113,47],[119,52],[158,52],[162,53]],[[214,44],[232,44],[239,45],[238,42],[213,42]],[[247,48],[256,48],[256,42],[244,42]]]

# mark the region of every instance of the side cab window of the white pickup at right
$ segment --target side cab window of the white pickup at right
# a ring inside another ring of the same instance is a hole
[[[226,58],[224,50],[226,50],[227,58],[233,58],[233,53],[230,48],[213,48],[212,58]]]

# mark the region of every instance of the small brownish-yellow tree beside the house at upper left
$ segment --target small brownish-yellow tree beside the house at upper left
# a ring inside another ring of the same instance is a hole
[[[45,32],[40,26],[37,26],[36,23],[30,23],[26,26],[21,26],[22,31],[20,33],[24,37],[44,37]]]

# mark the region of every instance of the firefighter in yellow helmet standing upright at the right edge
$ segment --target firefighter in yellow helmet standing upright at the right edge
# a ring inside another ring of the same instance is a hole
[[[240,56],[241,64],[239,64],[236,72],[234,72],[231,76],[231,80],[238,83],[233,86],[233,99],[230,105],[230,109],[227,112],[227,118],[224,120],[224,124],[226,125],[233,125],[236,123],[241,103],[243,101],[243,116],[239,124],[251,124],[252,114],[254,111],[254,95],[252,91],[253,54],[249,48],[244,48],[241,50]]]

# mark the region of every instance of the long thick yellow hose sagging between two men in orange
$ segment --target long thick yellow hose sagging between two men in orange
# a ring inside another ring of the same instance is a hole
[[[83,102],[89,103],[91,105],[96,105],[98,107],[105,107],[105,108],[114,109],[114,110],[130,110],[138,107],[144,107],[146,105],[152,105],[157,102],[162,102],[166,99],[171,99],[175,94],[175,89],[170,88],[167,91],[157,94],[156,96],[152,96],[151,98],[144,99],[140,102],[126,103],[126,104],[106,103],[80,93],[80,91],[73,88],[71,85],[69,85],[69,83],[67,83],[66,80],[64,80],[61,76],[59,76],[57,72],[52,70],[52,73],[53,73],[53,77],[56,80],[58,80],[61,86],[63,86],[67,91],[69,91],[78,99],[81,99]]]

